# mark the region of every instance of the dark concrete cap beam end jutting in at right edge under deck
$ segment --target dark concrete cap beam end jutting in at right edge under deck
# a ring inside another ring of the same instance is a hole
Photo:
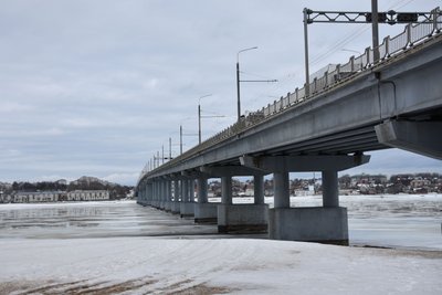
[[[442,159],[442,122],[387,120],[375,129],[383,145]]]

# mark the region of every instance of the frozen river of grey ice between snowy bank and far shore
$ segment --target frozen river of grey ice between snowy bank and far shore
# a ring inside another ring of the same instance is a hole
[[[320,202],[320,197],[292,198],[294,207]],[[350,244],[442,250],[441,194],[341,196],[340,204],[348,208]],[[135,201],[1,204],[0,221],[0,239],[217,235],[215,225],[198,225]]]

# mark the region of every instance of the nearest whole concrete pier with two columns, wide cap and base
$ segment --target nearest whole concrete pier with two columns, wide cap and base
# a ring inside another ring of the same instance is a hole
[[[339,207],[338,171],[368,162],[369,156],[274,156],[243,160],[274,173],[274,208],[269,210],[269,238],[348,244],[347,209]],[[323,207],[291,208],[290,171],[322,171]]]

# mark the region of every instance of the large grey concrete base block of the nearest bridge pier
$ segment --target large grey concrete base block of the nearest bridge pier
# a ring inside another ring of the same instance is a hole
[[[269,238],[348,245],[347,208],[270,209]]]

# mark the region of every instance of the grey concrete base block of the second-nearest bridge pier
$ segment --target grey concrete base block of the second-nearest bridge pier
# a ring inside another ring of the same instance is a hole
[[[266,233],[267,204],[219,204],[219,233]]]

